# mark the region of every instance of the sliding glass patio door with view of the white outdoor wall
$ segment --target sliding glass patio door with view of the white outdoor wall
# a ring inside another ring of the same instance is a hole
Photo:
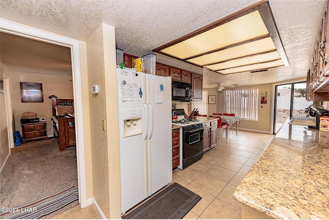
[[[287,118],[305,117],[305,109],[313,104],[307,101],[306,82],[276,85],[273,134],[276,134]]]

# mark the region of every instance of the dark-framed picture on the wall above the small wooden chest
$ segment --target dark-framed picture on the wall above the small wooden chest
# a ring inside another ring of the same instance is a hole
[[[20,83],[22,102],[43,102],[42,83]]]

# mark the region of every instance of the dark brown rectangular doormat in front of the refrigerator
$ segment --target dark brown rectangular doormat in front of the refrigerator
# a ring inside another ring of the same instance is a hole
[[[154,195],[123,219],[179,219],[183,218],[202,199],[191,190],[174,182]]]

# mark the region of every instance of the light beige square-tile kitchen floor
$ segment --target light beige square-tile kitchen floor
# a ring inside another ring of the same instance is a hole
[[[249,169],[258,160],[274,135],[239,131],[223,132],[217,138],[215,149],[184,170],[173,171],[173,182],[200,195],[202,199],[184,217],[185,219],[241,219],[242,204],[235,201],[232,193]],[[93,205],[79,206],[53,218],[90,219],[100,218]]]

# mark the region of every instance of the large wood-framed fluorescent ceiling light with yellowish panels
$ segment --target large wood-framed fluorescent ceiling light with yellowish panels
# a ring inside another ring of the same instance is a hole
[[[153,51],[223,75],[289,65],[267,1]]]

